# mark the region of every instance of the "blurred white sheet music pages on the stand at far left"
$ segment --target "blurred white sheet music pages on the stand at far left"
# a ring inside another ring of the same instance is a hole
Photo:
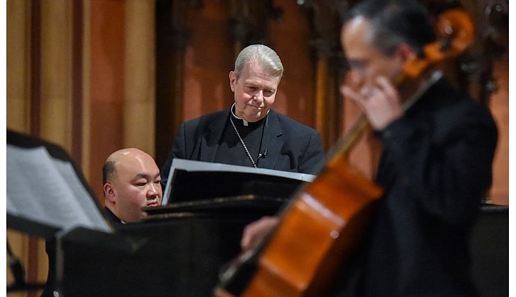
[[[69,230],[111,232],[71,163],[52,158],[44,146],[6,146],[7,213]]]

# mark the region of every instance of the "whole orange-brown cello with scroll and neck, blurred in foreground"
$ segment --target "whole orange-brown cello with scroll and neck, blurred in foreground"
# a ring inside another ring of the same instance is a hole
[[[396,78],[396,86],[425,78],[404,110],[442,76],[432,67],[461,54],[473,40],[473,23],[463,11],[445,11],[436,26],[437,42],[426,45],[424,57],[408,61]],[[222,272],[216,296],[323,295],[333,276],[349,264],[383,194],[347,161],[368,125],[361,115],[341,137],[325,168],[293,196],[276,227]]]

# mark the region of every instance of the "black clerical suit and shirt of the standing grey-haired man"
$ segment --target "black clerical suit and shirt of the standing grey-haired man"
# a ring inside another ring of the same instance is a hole
[[[248,129],[224,110],[181,124],[161,171],[162,185],[167,185],[174,158],[252,166],[230,116],[258,168],[316,174],[324,165],[325,153],[315,129],[274,110],[256,124],[247,123]]]

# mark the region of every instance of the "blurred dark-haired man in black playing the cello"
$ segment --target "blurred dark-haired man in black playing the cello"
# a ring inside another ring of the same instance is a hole
[[[442,73],[399,83],[436,40],[413,0],[365,0],[346,12],[341,45],[352,83],[341,93],[364,110],[383,151],[374,181],[383,196],[366,234],[358,281],[335,296],[476,296],[469,232],[492,180],[497,130],[488,110]],[[276,219],[248,226],[252,245]],[[337,283],[339,277],[337,276]]]

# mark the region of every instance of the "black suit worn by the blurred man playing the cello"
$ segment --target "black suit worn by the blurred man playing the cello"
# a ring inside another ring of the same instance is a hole
[[[493,117],[440,80],[376,134],[385,192],[353,296],[476,296],[469,232],[491,183]]]

